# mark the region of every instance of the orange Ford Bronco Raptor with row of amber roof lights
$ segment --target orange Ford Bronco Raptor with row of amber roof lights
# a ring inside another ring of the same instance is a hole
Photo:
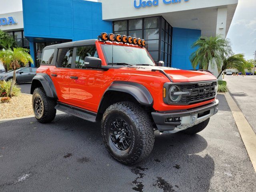
[[[150,154],[155,130],[202,131],[218,112],[216,78],[156,66],[144,46],[144,40],[106,33],[46,46],[31,86],[36,119],[51,122],[60,110],[101,122],[108,152],[124,164]]]

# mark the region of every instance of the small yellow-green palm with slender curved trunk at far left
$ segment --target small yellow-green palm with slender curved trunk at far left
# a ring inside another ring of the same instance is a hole
[[[13,69],[13,79],[12,79],[12,84],[11,84],[10,93],[9,93],[10,98],[12,98],[12,88],[16,83],[16,69],[20,67],[19,62],[22,62],[24,64],[28,62],[33,63],[33,59],[30,56],[30,54],[28,54],[28,51],[29,51],[28,49],[24,49],[21,47],[14,48],[13,51],[12,50],[0,51],[0,60],[10,63],[10,68]]]

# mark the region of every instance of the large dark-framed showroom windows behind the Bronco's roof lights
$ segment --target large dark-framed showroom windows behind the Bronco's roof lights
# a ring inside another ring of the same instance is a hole
[[[171,66],[172,26],[162,16],[114,21],[113,32],[146,40],[154,61]]]

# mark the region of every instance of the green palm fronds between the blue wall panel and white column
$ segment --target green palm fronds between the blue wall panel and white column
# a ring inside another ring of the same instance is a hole
[[[192,48],[198,48],[190,56],[193,68],[196,68],[199,64],[200,69],[206,70],[208,70],[209,65],[215,68],[216,64],[218,71],[220,71],[224,56],[232,52],[229,40],[222,38],[220,35],[200,37],[192,44]]]

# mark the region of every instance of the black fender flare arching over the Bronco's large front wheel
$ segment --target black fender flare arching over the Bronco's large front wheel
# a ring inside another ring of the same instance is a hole
[[[150,92],[142,84],[127,81],[114,81],[106,89],[104,94],[108,91],[120,91],[132,95],[140,104],[146,106],[153,105],[153,98]],[[102,98],[104,95],[102,96]]]

